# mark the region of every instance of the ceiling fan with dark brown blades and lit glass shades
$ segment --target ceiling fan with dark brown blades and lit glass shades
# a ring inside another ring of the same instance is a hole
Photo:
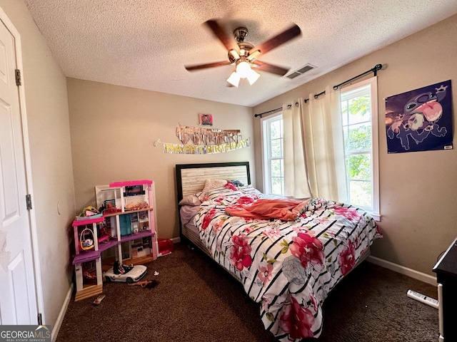
[[[286,31],[273,36],[257,46],[253,46],[251,43],[246,42],[246,36],[248,35],[248,29],[246,27],[236,28],[233,31],[232,38],[224,31],[216,20],[205,21],[205,24],[224,44],[229,52],[229,60],[197,64],[193,66],[186,66],[185,68],[188,71],[197,71],[205,68],[214,68],[216,66],[235,66],[235,71],[231,73],[231,76],[227,78],[227,81],[236,87],[238,87],[242,78],[247,78],[249,84],[251,85],[257,81],[260,75],[256,73],[256,71],[253,71],[253,68],[260,71],[266,71],[268,73],[274,73],[279,76],[286,75],[288,72],[287,68],[258,61],[256,58],[262,53],[267,53],[268,51],[273,50],[273,48],[277,48],[283,43],[301,35],[300,28],[294,24],[290,28],[286,29]]]

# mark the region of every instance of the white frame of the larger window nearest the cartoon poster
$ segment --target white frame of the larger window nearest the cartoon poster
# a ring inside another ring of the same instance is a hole
[[[371,208],[363,208],[371,213],[376,221],[381,220],[379,212],[379,132],[378,132],[378,78],[373,76],[365,81],[353,83],[340,90],[340,100],[343,101],[344,93],[370,86],[371,92]],[[341,111],[342,112],[342,111]],[[341,113],[343,115],[343,113]],[[341,127],[343,129],[343,127]],[[346,151],[345,151],[346,160]],[[346,165],[346,163],[345,163]],[[346,186],[348,187],[348,171],[346,170]],[[356,204],[354,204],[356,205]]]

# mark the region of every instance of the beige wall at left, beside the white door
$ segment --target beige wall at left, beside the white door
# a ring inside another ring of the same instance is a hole
[[[54,328],[73,272],[69,224],[75,199],[66,78],[23,2],[0,0],[0,7],[21,35],[42,314],[44,323]]]

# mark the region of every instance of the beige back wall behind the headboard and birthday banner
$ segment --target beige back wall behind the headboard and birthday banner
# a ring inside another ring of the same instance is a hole
[[[174,165],[251,162],[254,147],[214,155],[173,155],[154,141],[179,143],[176,125],[198,127],[199,113],[213,128],[253,137],[251,108],[68,78],[76,206],[95,205],[94,187],[122,180],[154,180],[159,238],[179,237]],[[255,177],[253,177],[255,184]]]

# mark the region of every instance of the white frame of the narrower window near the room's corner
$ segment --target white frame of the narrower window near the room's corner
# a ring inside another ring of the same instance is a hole
[[[271,159],[282,159],[284,160],[284,155],[281,158],[270,158],[270,151],[271,151],[271,135],[269,133],[269,128],[267,125],[275,120],[283,120],[283,112],[282,110],[268,115],[265,118],[261,118],[261,140],[262,140],[262,166],[263,166],[263,192],[268,195],[283,195],[283,194],[273,194],[272,192],[272,184],[271,184]],[[283,132],[282,132],[282,139],[283,139]],[[284,152],[284,151],[283,151]],[[284,176],[282,176],[284,179]],[[284,190],[284,188],[282,187]]]

